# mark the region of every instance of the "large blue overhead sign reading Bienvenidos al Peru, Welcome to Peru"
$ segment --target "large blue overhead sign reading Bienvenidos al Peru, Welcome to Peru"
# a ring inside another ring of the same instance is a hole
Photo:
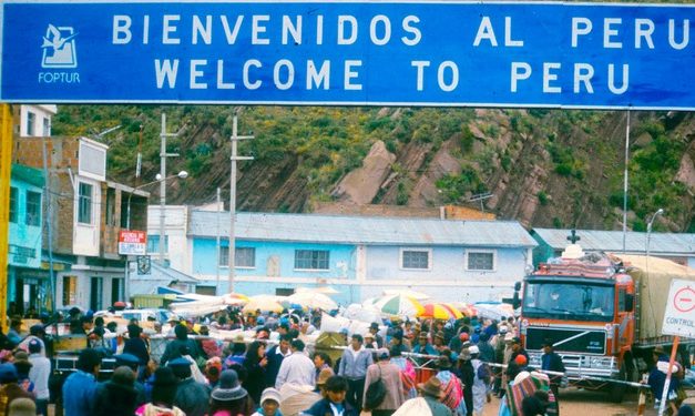
[[[695,7],[0,4],[0,100],[695,109]]]

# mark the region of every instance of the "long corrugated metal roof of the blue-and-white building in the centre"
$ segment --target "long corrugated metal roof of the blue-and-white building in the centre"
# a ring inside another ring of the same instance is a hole
[[[215,237],[217,213],[192,211],[188,234]],[[221,215],[228,235],[229,213]],[[453,221],[314,214],[247,213],[236,215],[238,239],[338,244],[468,245],[533,247],[538,243],[515,221]]]

